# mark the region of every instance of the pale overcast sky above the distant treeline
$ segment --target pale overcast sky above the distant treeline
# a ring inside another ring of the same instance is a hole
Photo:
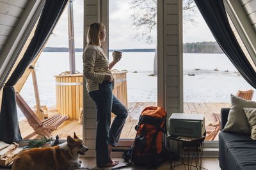
[[[83,48],[83,0],[75,0],[73,5],[75,46]],[[130,6],[131,0],[109,0],[109,49],[156,48],[156,44],[148,45],[134,38],[136,30],[132,29]],[[184,24],[183,42],[215,41],[197,8],[196,11],[198,24]],[[68,47],[67,9],[53,32],[46,46]],[[154,34],[156,36],[156,32]]]

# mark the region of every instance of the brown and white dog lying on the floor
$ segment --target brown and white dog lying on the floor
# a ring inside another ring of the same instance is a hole
[[[12,170],[59,170],[73,169],[81,166],[79,154],[84,155],[88,150],[81,139],[68,136],[67,142],[49,148],[34,148],[18,155]]]

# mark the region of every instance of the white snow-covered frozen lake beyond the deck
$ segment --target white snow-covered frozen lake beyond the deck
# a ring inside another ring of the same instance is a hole
[[[109,53],[111,56],[111,53]],[[113,60],[112,57],[109,59]],[[230,102],[237,90],[253,89],[239,74],[225,54],[184,53],[184,102]],[[55,77],[69,71],[68,53],[43,52],[36,62],[36,78],[41,105],[56,105]],[[123,53],[113,69],[126,69],[128,101],[157,101],[157,77],[148,76],[154,69],[154,52]],[[195,71],[195,69],[200,69]],[[213,71],[218,69],[219,71]],[[83,53],[76,52],[76,70],[83,72]],[[225,72],[227,71],[228,72]],[[137,71],[138,73],[133,73]],[[195,74],[195,76],[188,76]],[[255,90],[255,89],[253,89]],[[31,75],[20,94],[30,107],[35,105]],[[253,97],[253,100],[255,98]],[[19,120],[23,119],[19,110]]]

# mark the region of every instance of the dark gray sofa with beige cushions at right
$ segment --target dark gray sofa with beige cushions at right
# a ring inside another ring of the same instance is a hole
[[[230,108],[221,109],[221,130],[227,123]],[[220,132],[219,159],[222,170],[255,170],[256,141],[250,134]]]

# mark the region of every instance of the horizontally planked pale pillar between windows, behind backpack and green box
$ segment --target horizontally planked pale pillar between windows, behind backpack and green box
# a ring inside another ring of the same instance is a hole
[[[165,110],[170,117],[183,111],[182,3],[164,2]]]

